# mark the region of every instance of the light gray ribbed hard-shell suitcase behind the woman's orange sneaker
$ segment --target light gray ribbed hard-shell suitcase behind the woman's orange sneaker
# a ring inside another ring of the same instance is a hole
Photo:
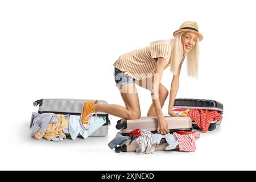
[[[38,113],[55,113],[55,114],[70,114],[80,115],[82,105],[84,102],[96,100],[80,100],[80,99],[41,99],[33,102],[34,106],[39,105]],[[108,104],[104,100],[98,100],[98,104]],[[96,113],[98,117],[105,117],[106,123],[102,125],[98,130],[94,131],[90,137],[105,137],[108,134],[110,125],[109,115],[102,112]],[[32,125],[32,119],[30,121],[30,127]]]

